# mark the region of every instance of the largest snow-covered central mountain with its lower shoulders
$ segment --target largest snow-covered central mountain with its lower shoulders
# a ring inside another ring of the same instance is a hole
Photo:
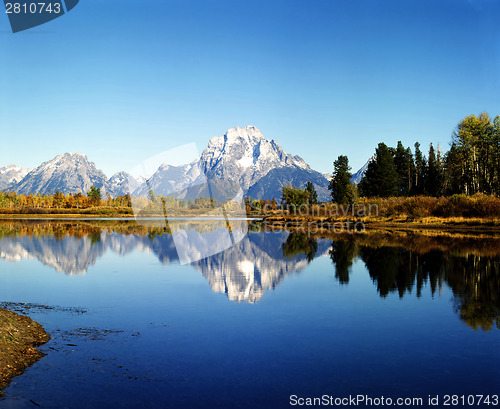
[[[279,198],[284,185],[304,187],[308,181],[316,185],[319,197],[327,196],[328,181],[323,175],[300,156],[287,154],[274,140],[265,139],[256,127],[247,126],[210,139],[197,161],[161,166],[134,194],[144,195],[153,189],[164,195],[206,195],[203,189],[208,183],[214,196],[217,192],[231,192],[231,196],[241,188],[244,194],[267,199]]]

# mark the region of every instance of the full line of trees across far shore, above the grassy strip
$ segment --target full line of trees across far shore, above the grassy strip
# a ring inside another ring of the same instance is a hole
[[[401,142],[389,147],[379,143],[358,186],[351,183],[352,173],[347,156],[339,156],[329,189],[332,201],[352,204],[359,197],[414,197],[414,196],[473,196],[483,194],[500,196],[500,116],[493,120],[488,114],[469,115],[457,125],[450,149],[443,152],[430,144],[424,153],[417,142],[413,150]],[[287,209],[289,207],[314,206],[317,193],[311,182],[305,189],[284,186],[281,203],[259,199],[245,199],[247,212],[256,210]],[[148,197],[132,198],[130,195],[112,198],[101,197],[94,186],[87,194],[18,195],[15,192],[0,193],[2,209],[89,209],[94,207],[140,208],[151,210],[166,206],[168,209],[200,210],[217,207],[210,198],[178,200],[172,196],[156,195],[152,190]],[[495,207],[497,206],[494,203]]]

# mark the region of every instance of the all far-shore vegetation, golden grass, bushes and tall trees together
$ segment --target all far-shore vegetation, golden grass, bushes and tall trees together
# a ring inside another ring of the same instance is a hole
[[[113,198],[91,186],[86,194],[0,192],[0,219],[30,217],[262,217],[273,223],[387,224],[500,227],[500,115],[469,115],[453,131],[450,149],[417,142],[414,150],[379,143],[358,184],[347,156],[333,162],[328,189],[331,201],[320,203],[315,185],[283,186],[281,198],[246,197],[244,204],[197,197],[179,199],[149,190],[146,196]],[[280,200],[278,204],[276,199]],[[226,199],[224,199],[226,200]]]

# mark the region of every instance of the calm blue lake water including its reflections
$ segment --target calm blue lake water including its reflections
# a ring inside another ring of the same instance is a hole
[[[2,306],[52,340],[0,406],[500,393],[499,241],[258,230],[182,264],[161,229],[2,224]]]

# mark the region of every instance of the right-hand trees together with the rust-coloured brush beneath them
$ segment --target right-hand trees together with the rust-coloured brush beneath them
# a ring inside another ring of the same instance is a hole
[[[384,199],[380,210],[386,217],[499,217],[500,116],[491,120],[482,113],[464,118],[447,152],[430,144],[424,153],[418,142],[413,150],[401,142],[395,148],[379,143],[357,186],[351,183],[347,156],[340,155],[333,167],[329,184],[333,204],[366,204],[368,198],[374,203],[379,198]],[[254,211],[276,209],[260,202],[247,200]],[[307,211],[317,203],[312,183],[305,189],[283,186],[279,208]]]

